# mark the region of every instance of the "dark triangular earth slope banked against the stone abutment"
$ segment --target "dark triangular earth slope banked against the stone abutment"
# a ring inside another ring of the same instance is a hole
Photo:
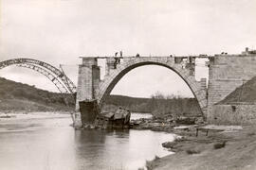
[[[256,76],[248,80],[244,85],[236,88],[232,93],[229,93],[229,95],[218,104],[229,104],[236,102],[256,102]]]

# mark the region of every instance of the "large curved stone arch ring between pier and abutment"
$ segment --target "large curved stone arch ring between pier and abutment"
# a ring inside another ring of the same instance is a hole
[[[119,64],[116,69],[110,70],[108,75],[100,82],[99,89],[97,90],[96,98],[100,106],[104,102],[105,98],[115,85],[119,82],[119,79],[127,74],[134,68],[142,65],[160,65],[173,70],[177,75],[179,75],[190,87],[194,97],[197,99],[200,109],[204,116],[207,115],[207,96],[206,89],[202,88],[201,82],[196,81],[195,77],[191,75],[190,70],[185,68],[184,65],[180,63],[175,63],[174,58],[133,58],[129,60],[124,60],[123,63]]]

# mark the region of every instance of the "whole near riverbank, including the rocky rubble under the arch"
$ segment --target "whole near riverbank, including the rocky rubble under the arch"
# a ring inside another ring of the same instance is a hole
[[[131,128],[178,135],[162,144],[175,154],[147,161],[148,170],[256,169],[256,126],[213,126],[199,118],[153,117],[133,120]]]

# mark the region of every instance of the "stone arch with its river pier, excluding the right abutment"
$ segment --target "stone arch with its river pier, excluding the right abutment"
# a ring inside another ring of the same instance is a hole
[[[103,79],[100,77],[100,67],[98,59],[82,58],[82,65],[79,66],[78,91],[76,110],[79,112],[79,101],[97,100],[98,105],[104,103],[107,95],[111,93],[119,79],[129,71],[143,65],[159,65],[173,70],[190,87],[194,97],[202,110],[202,114],[207,113],[207,87],[206,78],[196,81],[194,77],[195,58],[194,57],[125,57],[125,58],[105,58],[106,74]],[[89,114],[89,113],[88,113]],[[79,115],[77,115],[79,117]],[[82,115],[84,117],[84,115]],[[85,116],[85,118],[88,120]],[[93,120],[93,118],[91,119]]]

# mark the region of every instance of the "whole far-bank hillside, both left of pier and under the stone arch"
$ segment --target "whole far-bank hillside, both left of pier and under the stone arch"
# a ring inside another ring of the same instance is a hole
[[[56,111],[74,110],[75,101],[62,93],[51,93],[34,86],[0,77],[0,111]],[[109,95],[106,108],[123,107],[135,112],[156,114],[200,114],[194,98],[138,98],[123,95]]]

